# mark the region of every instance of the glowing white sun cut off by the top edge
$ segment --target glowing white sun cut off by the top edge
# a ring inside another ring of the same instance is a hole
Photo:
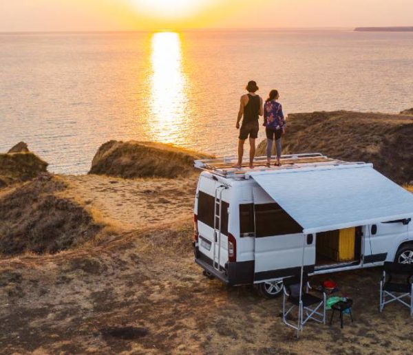
[[[200,12],[213,0],[131,0],[136,10],[151,17],[182,19]]]

